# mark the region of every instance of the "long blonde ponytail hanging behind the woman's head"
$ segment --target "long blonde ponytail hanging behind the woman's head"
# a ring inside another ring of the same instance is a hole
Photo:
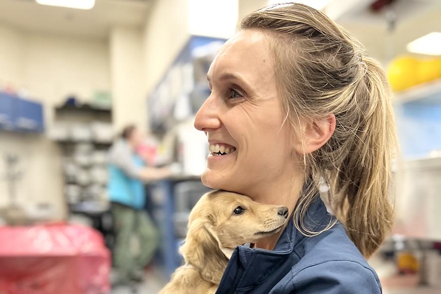
[[[373,59],[362,58],[363,78],[355,95],[367,98],[360,111],[355,140],[339,168],[332,172],[334,203],[340,220],[360,252],[370,256],[391,229],[393,209],[389,197],[395,129],[389,86]],[[355,126],[354,126],[355,127]]]

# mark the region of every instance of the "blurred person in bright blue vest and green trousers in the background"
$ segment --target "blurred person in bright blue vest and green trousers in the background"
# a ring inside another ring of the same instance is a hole
[[[114,263],[119,278],[116,285],[143,280],[144,268],[151,261],[159,241],[157,229],[144,210],[144,182],[159,180],[171,172],[167,167],[146,166],[142,156],[136,153],[142,142],[138,128],[129,125],[108,154],[108,195],[116,232]],[[138,236],[140,244],[136,258],[130,246],[134,235]]]

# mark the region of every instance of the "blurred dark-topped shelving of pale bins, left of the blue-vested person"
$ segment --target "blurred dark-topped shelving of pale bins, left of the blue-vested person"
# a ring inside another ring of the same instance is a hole
[[[69,215],[81,215],[91,221],[111,249],[114,236],[106,193],[106,153],[113,134],[97,138],[101,136],[99,129],[93,131],[93,127],[111,129],[112,111],[90,104],[63,105],[54,110],[55,123],[49,136],[62,150]],[[82,134],[82,130],[86,134]]]

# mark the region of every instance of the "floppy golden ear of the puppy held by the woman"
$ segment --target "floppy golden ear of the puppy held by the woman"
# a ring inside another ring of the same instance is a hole
[[[219,284],[228,263],[221,246],[209,218],[198,218],[191,221],[180,252],[205,281]]]

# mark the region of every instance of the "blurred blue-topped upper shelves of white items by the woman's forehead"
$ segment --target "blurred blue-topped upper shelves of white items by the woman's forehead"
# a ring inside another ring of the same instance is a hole
[[[164,134],[194,115],[210,90],[207,72],[225,39],[191,36],[148,97],[150,128]]]

